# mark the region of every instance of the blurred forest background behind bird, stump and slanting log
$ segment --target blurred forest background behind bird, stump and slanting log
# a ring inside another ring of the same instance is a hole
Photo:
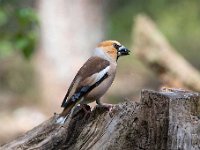
[[[0,0],[0,144],[61,112],[74,75],[102,40],[118,40],[132,51],[119,60],[104,102],[158,90],[161,81],[134,55],[139,14],[200,70],[199,6],[198,0]]]

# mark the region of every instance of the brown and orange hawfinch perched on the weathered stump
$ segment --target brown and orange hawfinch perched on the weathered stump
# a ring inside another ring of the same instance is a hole
[[[104,106],[100,98],[113,83],[117,60],[129,54],[130,50],[116,40],[100,42],[69,86],[61,105],[64,109],[57,122],[64,123],[69,112],[78,104],[96,101],[98,105]]]

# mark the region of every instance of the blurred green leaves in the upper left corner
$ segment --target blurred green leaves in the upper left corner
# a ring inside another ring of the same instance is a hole
[[[0,1],[0,59],[17,51],[26,58],[33,54],[38,38],[38,18],[22,2]]]

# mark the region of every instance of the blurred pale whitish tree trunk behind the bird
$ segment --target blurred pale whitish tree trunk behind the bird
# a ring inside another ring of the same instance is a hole
[[[52,112],[58,110],[75,73],[102,40],[103,6],[98,0],[40,0],[37,6],[41,42],[34,61],[42,100]]]

